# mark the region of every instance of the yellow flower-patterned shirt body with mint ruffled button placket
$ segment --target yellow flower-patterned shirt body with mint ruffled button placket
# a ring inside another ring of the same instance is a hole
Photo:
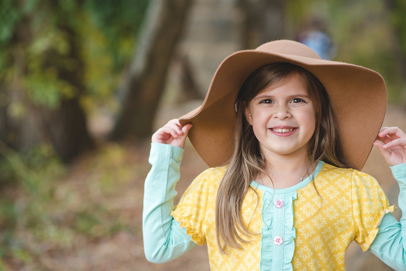
[[[217,247],[214,212],[226,168],[201,173],[172,212],[195,243],[207,243],[212,271],[344,270],[349,244],[354,240],[367,250],[383,215],[395,208],[370,175],[320,162],[311,176],[289,188],[252,181],[241,215],[257,235],[250,236],[242,250],[228,248],[223,255]]]

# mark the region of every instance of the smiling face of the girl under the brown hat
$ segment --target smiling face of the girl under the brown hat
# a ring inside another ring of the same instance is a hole
[[[316,127],[313,103],[298,75],[268,86],[245,108],[265,156],[305,155]]]

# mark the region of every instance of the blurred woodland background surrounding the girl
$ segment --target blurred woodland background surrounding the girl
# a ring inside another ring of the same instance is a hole
[[[381,73],[384,125],[406,130],[405,18],[404,0],[0,0],[0,270],[209,270],[205,246],[145,260],[152,133],[225,57],[282,38]],[[175,202],[206,168],[186,149]],[[364,171],[397,204],[384,163],[374,149]],[[390,270],[357,245],[346,259]]]

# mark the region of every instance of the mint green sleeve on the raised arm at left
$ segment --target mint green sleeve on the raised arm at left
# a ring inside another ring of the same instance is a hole
[[[168,262],[196,246],[171,215],[182,156],[182,148],[151,144],[152,168],[145,179],[142,211],[144,252],[150,262]]]

